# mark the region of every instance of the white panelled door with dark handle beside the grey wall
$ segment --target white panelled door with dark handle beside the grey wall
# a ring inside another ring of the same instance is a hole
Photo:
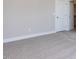
[[[69,23],[69,3],[67,0],[55,0],[55,30],[64,31]]]

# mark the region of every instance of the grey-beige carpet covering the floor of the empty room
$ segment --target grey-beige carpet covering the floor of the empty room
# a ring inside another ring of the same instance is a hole
[[[4,44],[4,59],[76,59],[76,33],[55,34]]]

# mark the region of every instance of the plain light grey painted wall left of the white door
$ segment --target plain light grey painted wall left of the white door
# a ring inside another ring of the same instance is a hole
[[[4,40],[54,31],[54,0],[4,0]]]

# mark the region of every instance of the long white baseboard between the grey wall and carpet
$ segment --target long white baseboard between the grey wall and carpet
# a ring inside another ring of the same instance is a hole
[[[51,31],[51,32],[44,32],[44,33],[38,33],[38,34],[27,35],[27,36],[20,36],[20,37],[8,38],[8,39],[4,39],[4,40],[3,40],[3,43],[13,42],[13,41],[23,40],[23,39],[28,39],[28,38],[37,37],[37,36],[42,36],[42,35],[46,35],[46,34],[52,34],[52,33],[56,33],[56,32],[52,32],[52,31]]]

